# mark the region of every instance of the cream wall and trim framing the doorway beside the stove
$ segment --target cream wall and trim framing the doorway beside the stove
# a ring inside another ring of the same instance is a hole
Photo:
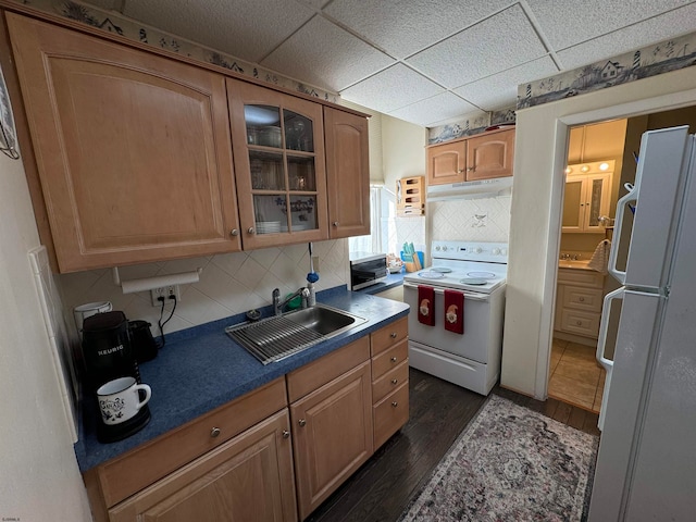
[[[696,104],[696,67],[518,112],[501,384],[546,398],[568,126]]]

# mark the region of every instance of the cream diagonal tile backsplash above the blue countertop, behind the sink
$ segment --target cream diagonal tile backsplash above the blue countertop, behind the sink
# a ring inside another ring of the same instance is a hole
[[[314,257],[319,257],[316,290],[349,284],[348,240],[313,243],[312,246]],[[274,288],[279,288],[284,296],[304,286],[309,272],[308,245],[123,266],[119,272],[122,281],[130,281],[196,269],[202,269],[200,281],[181,286],[181,301],[166,323],[165,334],[265,307],[271,303]],[[111,301],[113,309],[122,310],[129,320],[150,322],[152,333],[159,335],[160,307],[152,306],[150,293],[123,294],[114,284],[111,269],[62,274],[58,279],[67,310],[86,302]],[[164,320],[172,308],[173,303],[167,302]],[[71,330],[76,336],[74,324]]]

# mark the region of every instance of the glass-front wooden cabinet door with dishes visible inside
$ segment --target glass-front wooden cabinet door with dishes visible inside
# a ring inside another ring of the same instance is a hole
[[[244,248],[328,238],[322,107],[227,79]]]

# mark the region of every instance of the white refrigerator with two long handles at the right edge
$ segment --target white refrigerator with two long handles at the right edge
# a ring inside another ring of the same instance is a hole
[[[591,522],[696,520],[694,142],[688,126],[645,133],[635,183],[617,206],[609,272],[623,286],[605,298],[597,347],[607,381]],[[611,313],[620,316],[608,361]]]

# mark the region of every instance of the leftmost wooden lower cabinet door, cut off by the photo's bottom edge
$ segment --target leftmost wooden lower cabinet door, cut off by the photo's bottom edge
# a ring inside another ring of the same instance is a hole
[[[109,510],[113,522],[297,520],[287,409]]]

